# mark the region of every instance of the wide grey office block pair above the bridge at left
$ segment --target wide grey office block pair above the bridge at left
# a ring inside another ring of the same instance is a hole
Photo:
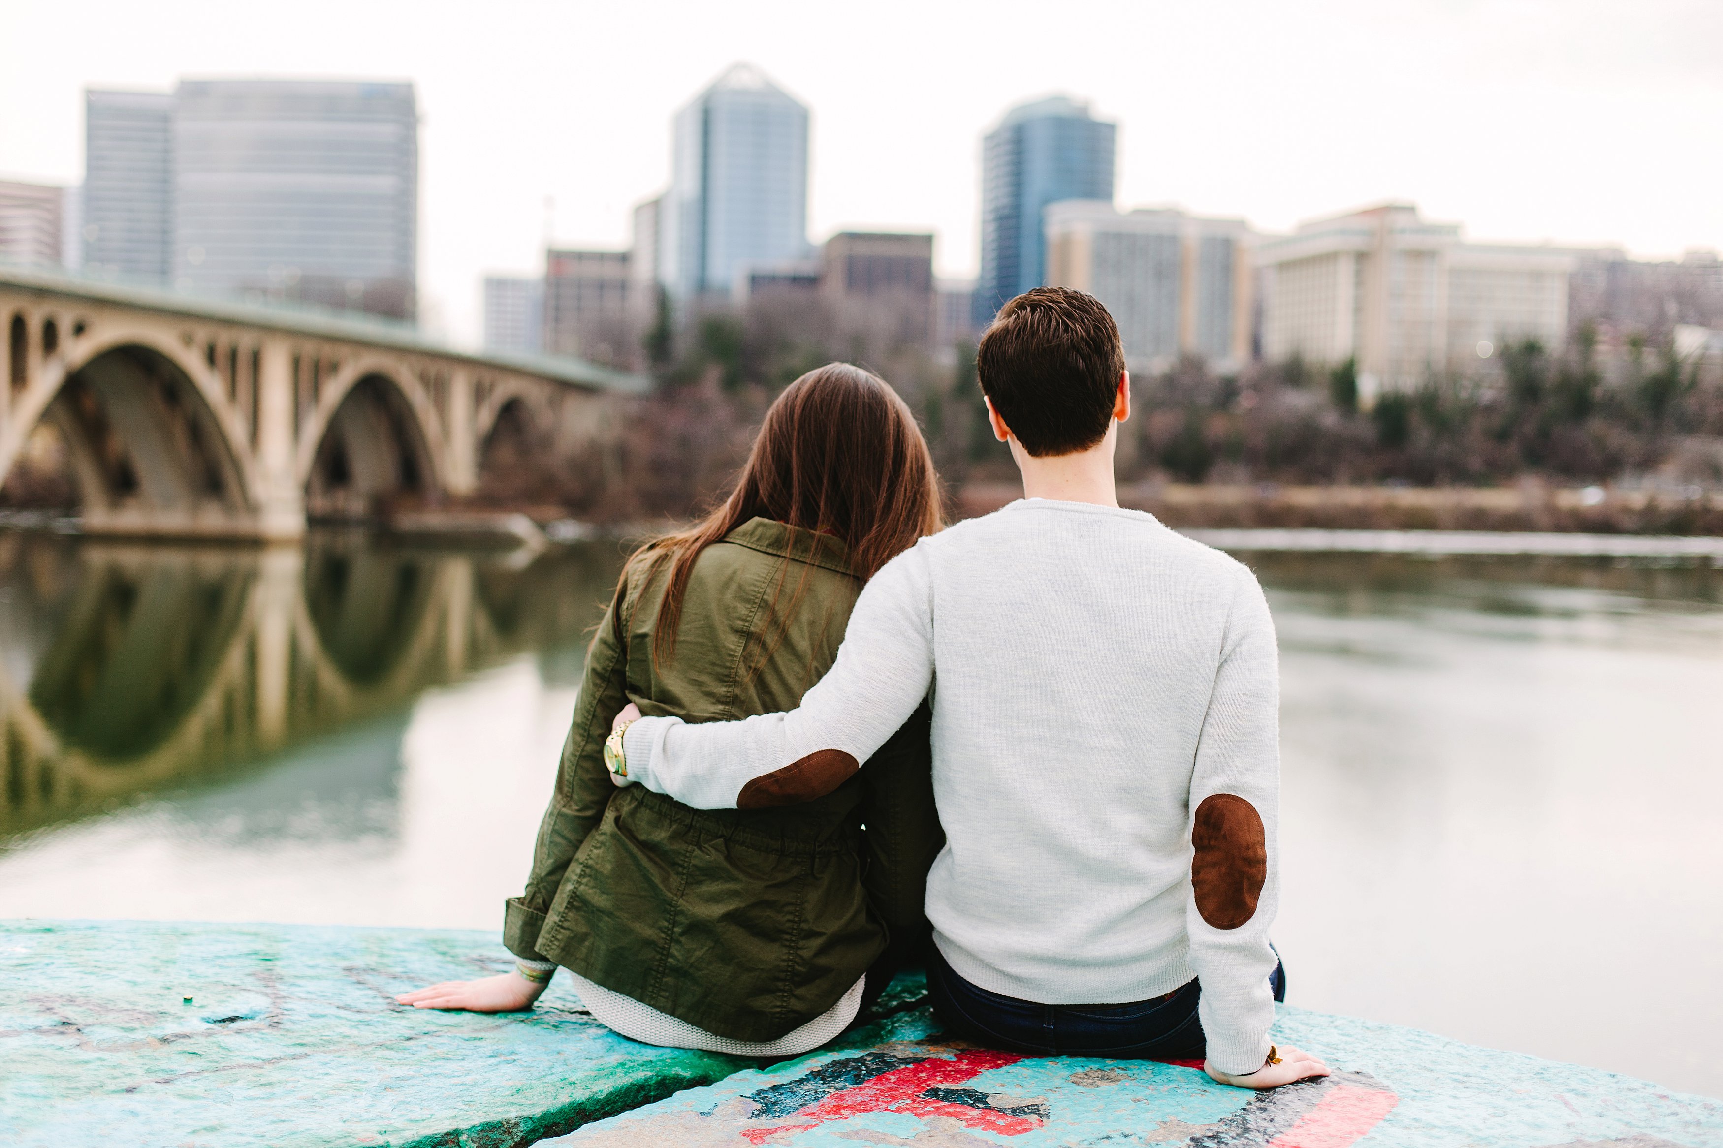
[[[86,93],[84,270],[412,318],[412,84],[181,81]]]

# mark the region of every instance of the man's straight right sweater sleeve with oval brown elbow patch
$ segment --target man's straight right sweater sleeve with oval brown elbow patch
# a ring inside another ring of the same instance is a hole
[[[1268,926],[1280,900],[1280,666],[1256,578],[1237,583],[1191,773],[1191,964],[1208,1057],[1254,1072],[1275,1021]]]

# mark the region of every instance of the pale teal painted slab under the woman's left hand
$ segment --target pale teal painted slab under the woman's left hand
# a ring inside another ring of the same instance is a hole
[[[395,1003],[512,966],[462,929],[0,923],[0,1145],[501,1148],[753,1064],[624,1040],[563,984]]]

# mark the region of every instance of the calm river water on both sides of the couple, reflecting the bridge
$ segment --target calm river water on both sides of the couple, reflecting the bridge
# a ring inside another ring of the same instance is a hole
[[[1723,1096],[1723,570],[1241,558],[1291,1003]],[[617,565],[0,535],[0,917],[496,928]]]

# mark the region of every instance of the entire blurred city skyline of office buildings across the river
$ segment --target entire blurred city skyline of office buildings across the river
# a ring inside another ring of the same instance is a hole
[[[1501,375],[1528,339],[1623,360],[1723,343],[1723,263],[1616,248],[1478,243],[1384,203],[1272,236],[1180,207],[1122,210],[1118,126],[1056,95],[979,141],[980,268],[937,281],[932,232],[810,243],[810,110],[736,64],[670,124],[670,182],[632,208],[627,250],[546,241],[532,274],[482,281],[482,343],[665,367],[708,318],[781,312],[839,355],[960,358],[1039,284],[1096,294],[1132,370],[1223,375],[1289,361],[1356,372],[1365,406],[1432,375]],[[258,303],[415,318],[419,119],[410,83],[184,79],[84,93],[84,182],[0,184],[0,258]],[[787,310],[786,310],[787,308]],[[706,324],[706,327],[701,327]],[[655,334],[656,332],[656,334]],[[651,349],[648,343],[653,343]],[[1623,360],[1625,361],[1625,360]]]

